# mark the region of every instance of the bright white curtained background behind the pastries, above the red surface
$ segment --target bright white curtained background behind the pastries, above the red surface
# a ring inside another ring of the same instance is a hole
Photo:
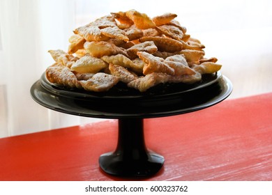
[[[270,0],[0,0],[0,138],[94,123],[31,99],[31,85],[54,63],[49,49],[68,48],[73,30],[111,12],[149,17],[176,13],[188,34],[215,56],[234,91],[229,99],[272,92]]]

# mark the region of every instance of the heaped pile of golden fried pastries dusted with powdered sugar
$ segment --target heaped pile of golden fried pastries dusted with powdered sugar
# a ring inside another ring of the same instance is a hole
[[[68,88],[108,91],[119,81],[144,92],[163,83],[193,84],[220,70],[174,13],[111,13],[75,29],[68,51],[50,50],[47,79]]]

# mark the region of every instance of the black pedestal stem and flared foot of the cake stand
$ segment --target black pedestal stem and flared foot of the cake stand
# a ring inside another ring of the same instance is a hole
[[[100,168],[114,176],[153,176],[163,166],[163,156],[146,149],[142,118],[119,119],[116,150],[100,156]]]

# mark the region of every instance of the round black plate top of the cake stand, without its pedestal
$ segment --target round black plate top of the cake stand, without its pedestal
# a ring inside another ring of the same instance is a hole
[[[106,93],[91,93],[51,84],[42,77],[31,87],[39,104],[66,114],[94,118],[154,118],[204,109],[232,92],[232,84],[220,72],[204,75],[196,84],[161,84],[140,93],[118,84]]]

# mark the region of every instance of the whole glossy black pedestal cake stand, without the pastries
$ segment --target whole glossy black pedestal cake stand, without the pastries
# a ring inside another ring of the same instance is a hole
[[[39,104],[66,114],[93,118],[117,118],[116,150],[100,156],[100,168],[114,176],[152,176],[164,157],[146,148],[144,118],[185,114],[211,107],[232,93],[232,83],[220,72],[202,75],[196,84],[159,84],[139,93],[117,84],[105,93],[64,88],[47,81],[45,73],[31,86]]]

